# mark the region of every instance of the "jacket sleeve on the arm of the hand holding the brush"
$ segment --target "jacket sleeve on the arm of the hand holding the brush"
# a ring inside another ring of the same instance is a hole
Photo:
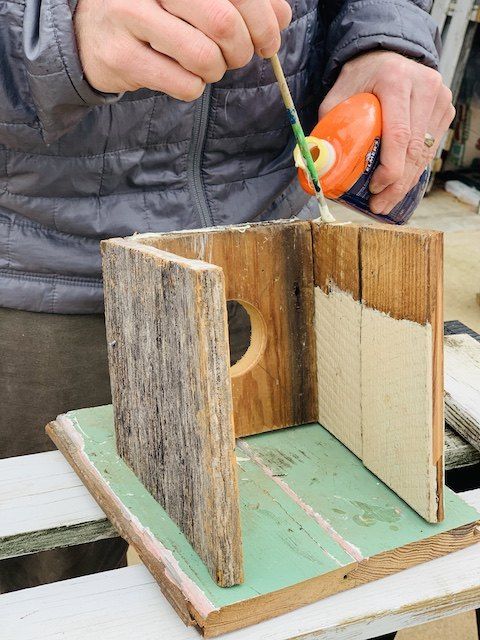
[[[76,1],[25,1],[25,68],[47,144],[72,129],[91,107],[110,104],[121,97],[96,91],[83,76],[72,20]]]

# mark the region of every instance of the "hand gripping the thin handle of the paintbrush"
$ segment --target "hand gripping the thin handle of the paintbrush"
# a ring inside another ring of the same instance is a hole
[[[74,25],[88,82],[106,93],[140,88],[180,100],[280,47],[285,0],[79,0]]]

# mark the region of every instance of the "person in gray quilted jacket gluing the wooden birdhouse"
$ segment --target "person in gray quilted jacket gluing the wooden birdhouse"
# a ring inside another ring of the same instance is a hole
[[[375,93],[372,210],[435,154],[454,109],[429,0],[6,0],[0,19],[0,456],[110,401],[99,241],[315,215],[268,58],[304,127]],[[427,146],[425,136],[434,138]],[[118,539],[0,564],[0,590],[121,565]]]

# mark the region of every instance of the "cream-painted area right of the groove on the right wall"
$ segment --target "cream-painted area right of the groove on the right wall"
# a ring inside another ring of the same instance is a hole
[[[363,308],[363,462],[429,522],[437,520],[432,331]]]

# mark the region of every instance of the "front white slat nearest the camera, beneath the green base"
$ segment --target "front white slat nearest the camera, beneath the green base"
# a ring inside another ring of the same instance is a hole
[[[480,490],[464,494],[480,508]],[[365,640],[480,606],[480,544],[223,640]],[[142,566],[0,596],[2,640],[198,640]]]

